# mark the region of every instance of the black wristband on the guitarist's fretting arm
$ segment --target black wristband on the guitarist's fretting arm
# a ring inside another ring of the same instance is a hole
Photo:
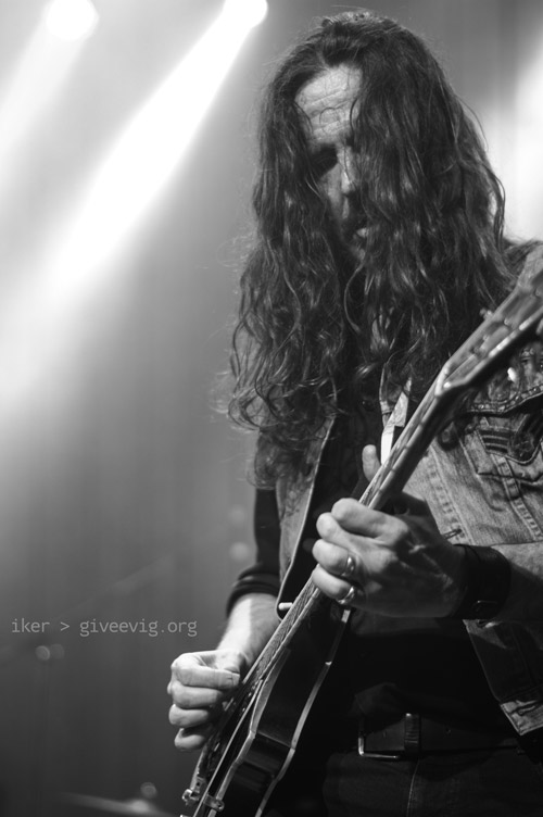
[[[460,545],[466,553],[467,583],[462,602],[447,618],[494,618],[509,593],[510,565],[494,548]]]

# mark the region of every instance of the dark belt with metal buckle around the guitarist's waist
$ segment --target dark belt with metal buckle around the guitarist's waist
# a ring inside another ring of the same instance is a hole
[[[473,752],[518,749],[517,740],[503,733],[462,729],[407,713],[401,720],[371,730],[363,718],[358,729],[358,753],[367,757],[401,759],[433,752]]]

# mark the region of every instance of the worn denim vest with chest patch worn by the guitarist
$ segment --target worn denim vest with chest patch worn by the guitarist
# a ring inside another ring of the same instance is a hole
[[[542,264],[540,247],[522,276]],[[433,441],[405,490],[425,499],[452,544],[496,546],[512,564],[508,620],[465,626],[492,693],[525,734],[543,727],[543,344],[518,350],[459,420],[459,440],[447,447]],[[277,486],[282,593],[329,430],[310,452],[310,474]]]

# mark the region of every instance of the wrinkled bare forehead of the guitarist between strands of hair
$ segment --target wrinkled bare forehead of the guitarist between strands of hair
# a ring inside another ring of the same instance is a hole
[[[312,141],[333,140],[351,129],[359,87],[361,73],[349,65],[327,68],[303,86],[296,103],[306,116]]]

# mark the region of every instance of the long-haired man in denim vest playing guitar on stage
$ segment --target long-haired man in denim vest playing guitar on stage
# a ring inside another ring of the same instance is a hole
[[[323,20],[273,78],[254,209],[231,413],[260,432],[257,562],[218,649],[174,662],[176,744],[203,745],[311,573],[353,614],[269,814],[541,815],[539,342],[462,403],[405,494],[349,498],[543,252],[504,238],[435,59],[364,11]]]

